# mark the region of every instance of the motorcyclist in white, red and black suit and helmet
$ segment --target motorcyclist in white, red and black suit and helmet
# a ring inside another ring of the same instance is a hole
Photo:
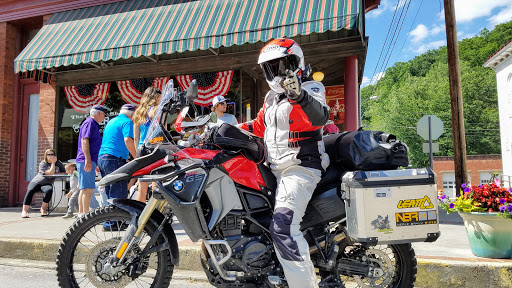
[[[329,165],[322,141],[322,126],[329,119],[325,88],[307,80],[302,49],[291,39],[265,45],[258,64],[271,90],[258,117],[241,128],[264,138],[267,161],[277,179],[270,230],[288,285],[318,287],[300,222]]]

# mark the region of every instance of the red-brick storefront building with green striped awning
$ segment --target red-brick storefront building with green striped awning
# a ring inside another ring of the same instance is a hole
[[[336,115],[342,129],[357,129],[365,13],[380,0],[319,1],[1,1],[0,207],[21,203],[45,149],[63,161],[76,155],[77,119],[87,113],[76,112],[65,87],[107,83],[103,101],[116,111],[124,104],[117,81],[229,70],[228,96],[243,115],[268,91],[256,63],[272,38],[296,40],[324,85],[342,87]]]

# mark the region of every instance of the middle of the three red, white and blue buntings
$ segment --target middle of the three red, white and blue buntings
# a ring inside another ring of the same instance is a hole
[[[121,97],[123,97],[124,102],[138,107],[140,105],[140,99],[148,87],[155,86],[162,90],[170,78],[171,77],[139,78],[134,80],[117,81],[117,87],[119,88],[119,92],[121,93]]]

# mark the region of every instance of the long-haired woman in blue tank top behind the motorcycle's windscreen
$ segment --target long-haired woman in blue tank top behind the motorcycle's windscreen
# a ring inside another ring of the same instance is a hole
[[[133,114],[133,135],[135,137],[135,143],[138,143],[138,148],[144,142],[146,134],[148,132],[151,120],[156,112],[156,107],[160,102],[162,91],[156,87],[149,87],[144,91],[142,98],[140,99],[140,106],[135,110]],[[137,149],[137,152],[139,150]],[[140,157],[142,155],[138,155]],[[137,193],[137,200],[140,202],[146,202],[146,192],[148,190],[149,183],[139,182],[139,191]]]

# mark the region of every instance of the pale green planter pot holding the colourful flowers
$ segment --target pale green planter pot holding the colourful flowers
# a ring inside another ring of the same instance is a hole
[[[463,213],[471,251],[486,258],[512,257],[512,221],[498,213]]]

